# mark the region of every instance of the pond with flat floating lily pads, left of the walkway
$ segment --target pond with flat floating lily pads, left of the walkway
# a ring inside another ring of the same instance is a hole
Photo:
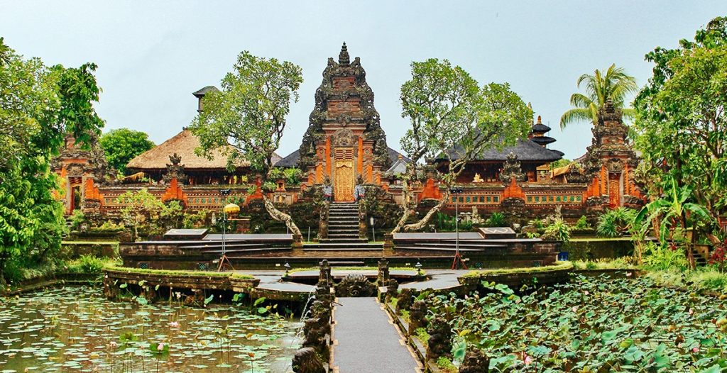
[[[0,300],[0,372],[292,372],[299,328],[247,308],[57,287]]]

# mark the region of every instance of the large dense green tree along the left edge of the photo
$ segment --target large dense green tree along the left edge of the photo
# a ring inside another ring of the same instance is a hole
[[[91,141],[100,133],[95,68],[47,67],[0,38],[0,282],[8,263],[32,264],[60,248],[65,222],[49,161],[66,134]]]

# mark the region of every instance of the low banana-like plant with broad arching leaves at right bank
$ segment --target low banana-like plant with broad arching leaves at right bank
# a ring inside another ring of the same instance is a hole
[[[694,242],[687,239],[687,231],[691,229],[694,232],[696,226],[709,222],[710,214],[703,206],[690,202],[693,200],[691,187],[678,187],[674,179],[671,179],[670,186],[667,194],[640,210],[635,222],[648,226],[650,221],[657,219],[660,222],[659,241],[664,246],[670,242],[674,247],[682,245],[689,265],[694,269]]]

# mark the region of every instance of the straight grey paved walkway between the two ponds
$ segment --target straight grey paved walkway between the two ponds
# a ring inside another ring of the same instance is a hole
[[[376,298],[337,298],[333,372],[414,373],[422,366]]]

